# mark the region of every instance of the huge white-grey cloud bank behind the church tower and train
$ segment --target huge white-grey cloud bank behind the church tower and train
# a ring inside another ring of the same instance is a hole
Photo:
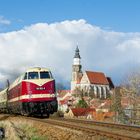
[[[85,70],[120,80],[133,63],[140,64],[140,33],[103,30],[85,20],[37,23],[0,34],[0,82],[28,67],[49,67],[58,79],[70,80],[76,44]]]

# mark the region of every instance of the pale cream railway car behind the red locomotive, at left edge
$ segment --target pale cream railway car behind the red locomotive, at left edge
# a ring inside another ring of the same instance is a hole
[[[7,112],[7,92],[8,89],[4,89],[0,92],[0,112]]]

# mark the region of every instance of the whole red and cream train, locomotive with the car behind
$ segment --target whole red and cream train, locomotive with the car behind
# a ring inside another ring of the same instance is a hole
[[[47,68],[29,68],[0,92],[0,112],[49,117],[57,108],[55,79]]]

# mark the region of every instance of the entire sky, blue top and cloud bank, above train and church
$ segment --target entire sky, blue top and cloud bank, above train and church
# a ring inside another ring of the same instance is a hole
[[[34,66],[68,86],[77,44],[83,71],[119,85],[140,67],[139,27],[139,0],[0,0],[0,87]]]

